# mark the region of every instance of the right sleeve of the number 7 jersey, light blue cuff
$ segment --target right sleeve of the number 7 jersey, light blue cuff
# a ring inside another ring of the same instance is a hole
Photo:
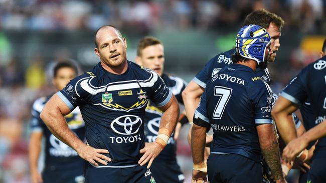
[[[269,85],[259,79],[251,82],[249,96],[253,101],[256,124],[273,123],[270,111],[272,109],[272,90]]]

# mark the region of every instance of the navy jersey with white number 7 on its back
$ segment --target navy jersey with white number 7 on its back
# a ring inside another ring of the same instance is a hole
[[[256,126],[273,123],[271,108],[269,85],[250,67],[230,64],[207,83],[195,117],[213,128],[211,153],[236,153],[260,162]]]

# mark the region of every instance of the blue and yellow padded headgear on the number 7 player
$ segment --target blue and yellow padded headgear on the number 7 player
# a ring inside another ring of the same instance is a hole
[[[242,27],[235,42],[237,53],[256,60],[258,64],[265,60],[265,50],[269,44],[270,36],[266,29],[254,24]]]

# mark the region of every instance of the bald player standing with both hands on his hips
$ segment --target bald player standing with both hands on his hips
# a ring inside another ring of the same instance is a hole
[[[126,38],[116,27],[100,27],[94,41],[100,62],[54,94],[40,116],[86,160],[86,182],[155,182],[149,167],[176,126],[178,101],[155,71],[127,60]],[[143,117],[149,99],[163,114],[157,138],[145,143]],[[88,145],[63,118],[76,106],[86,123]]]

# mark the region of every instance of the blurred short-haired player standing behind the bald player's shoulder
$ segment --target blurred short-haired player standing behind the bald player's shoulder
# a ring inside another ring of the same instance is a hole
[[[158,73],[179,103],[183,104],[181,92],[186,87],[186,82],[177,76],[164,73],[164,46],[156,37],[146,36],[139,40],[137,46],[136,63],[145,68],[150,68]],[[152,142],[157,136],[157,129],[162,111],[151,101],[148,102],[144,117],[145,141]],[[185,115],[184,115],[185,116]],[[185,116],[185,118],[187,118]],[[188,120],[182,120],[187,121]],[[177,163],[177,144],[175,133],[172,133],[164,150],[151,164],[151,172],[156,182],[183,182],[185,176]]]

